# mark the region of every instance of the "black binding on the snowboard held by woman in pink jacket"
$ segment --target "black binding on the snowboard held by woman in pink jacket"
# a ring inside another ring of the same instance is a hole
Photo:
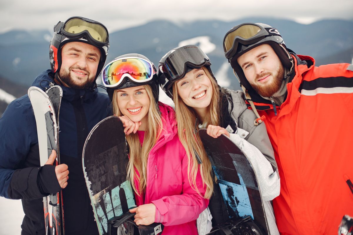
[[[162,234],[164,226],[160,223],[152,223],[150,225],[137,225],[132,218],[136,213],[126,212],[124,215],[115,216],[108,221],[108,235],[118,234],[121,225],[125,224],[126,229],[132,231],[136,235],[157,235]],[[137,228],[138,233],[132,227]]]

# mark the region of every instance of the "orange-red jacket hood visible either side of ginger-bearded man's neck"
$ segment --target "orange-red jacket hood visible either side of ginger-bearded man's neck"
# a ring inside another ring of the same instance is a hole
[[[315,60],[310,56],[296,55],[294,53],[291,53],[291,56],[294,60],[294,68],[288,84],[293,83],[299,88],[299,85],[303,79],[303,76],[301,75],[315,66]],[[271,101],[262,98],[252,87],[246,91],[249,93],[251,97],[250,100],[253,101],[257,110],[273,109]],[[250,104],[248,100],[249,99],[246,99],[246,105],[249,107]]]

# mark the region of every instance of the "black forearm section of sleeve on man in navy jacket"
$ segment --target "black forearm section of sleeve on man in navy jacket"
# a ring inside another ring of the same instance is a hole
[[[15,170],[8,187],[9,198],[34,200],[48,196],[40,191],[37,184],[40,169],[41,167],[27,167]]]

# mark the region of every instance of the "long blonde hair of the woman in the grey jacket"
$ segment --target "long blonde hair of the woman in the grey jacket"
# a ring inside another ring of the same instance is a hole
[[[205,74],[211,81],[213,95],[211,98],[210,105],[208,106],[208,112],[206,117],[203,120],[203,123],[207,123],[207,125],[220,125],[220,104],[219,97],[220,91],[218,85],[213,79],[213,76],[210,74],[207,68],[202,67]],[[196,125],[197,114],[193,110],[192,107],[187,106],[183,100],[180,99],[178,95],[177,82],[173,84],[173,101],[175,104],[175,113],[177,116],[178,122],[178,135],[181,144],[183,144],[188,161],[191,164],[188,164],[187,174],[190,181],[192,179],[191,185],[196,185],[196,175],[198,166],[200,166],[200,173],[203,180],[204,185],[206,185],[205,198],[209,199],[213,193],[213,179],[211,176],[211,163],[207,157],[206,151],[201,142],[201,138],[198,134],[195,134],[195,129],[198,131],[198,125]],[[196,126],[195,126],[196,125]],[[202,164],[198,164],[195,152],[201,158]],[[191,176],[191,177],[190,177]],[[196,187],[196,191],[198,189]]]

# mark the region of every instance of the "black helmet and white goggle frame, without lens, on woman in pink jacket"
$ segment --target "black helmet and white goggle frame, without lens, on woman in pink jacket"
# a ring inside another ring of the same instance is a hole
[[[152,69],[154,70],[153,71],[154,75],[153,75],[152,79],[147,81],[147,82],[134,82],[128,76],[124,76],[123,75],[123,77],[121,78],[122,80],[121,80],[121,84],[120,85],[118,85],[116,87],[107,87],[105,82],[104,82],[103,73],[102,73],[103,85],[107,87],[107,93],[109,95],[110,100],[111,101],[113,100],[114,90],[124,89],[124,88],[129,88],[129,87],[142,86],[142,85],[150,85],[150,87],[152,88],[152,93],[153,93],[155,102],[156,102],[156,104],[158,104],[159,87],[158,87],[157,69],[154,66],[154,64],[146,56],[140,55],[140,54],[136,54],[136,53],[121,55],[121,56],[116,57],[114,60],[118,60],[119,58],[126,58],[126,57],[142,58],[142,59],[144,59],[146,61],[149,61],[152,64]]]

